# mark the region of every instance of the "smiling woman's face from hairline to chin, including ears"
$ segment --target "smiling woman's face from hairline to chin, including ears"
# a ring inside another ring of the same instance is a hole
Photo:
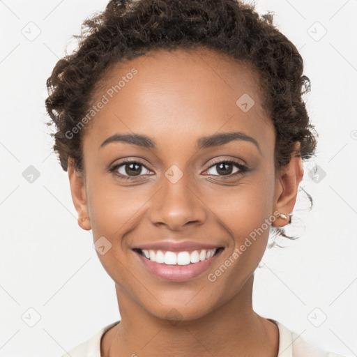
[[[256,79],[208,50],[157,50],[105,76],[94,102],[105,104],[83,138],[84,176],[68,169],[73,201],[79,217],[89,217],[82,227],[101,239],[98,257],[119,298],[155,317],[176,309],[195,319],[238,296],[266,249],[266,222],[294,207],[300,166],[284,176],[295,175],[284,190]],[[134,250],[162,242],[195,243],[172,248],[190,258],[193,248],[220,249],[176,266]]]

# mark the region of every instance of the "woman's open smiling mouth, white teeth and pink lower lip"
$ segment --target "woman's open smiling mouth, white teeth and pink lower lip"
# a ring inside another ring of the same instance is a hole
[[[163,251],[133,248],[144,270],[160,280],[184,282],[203,275],[225,248],[192,251]]]

